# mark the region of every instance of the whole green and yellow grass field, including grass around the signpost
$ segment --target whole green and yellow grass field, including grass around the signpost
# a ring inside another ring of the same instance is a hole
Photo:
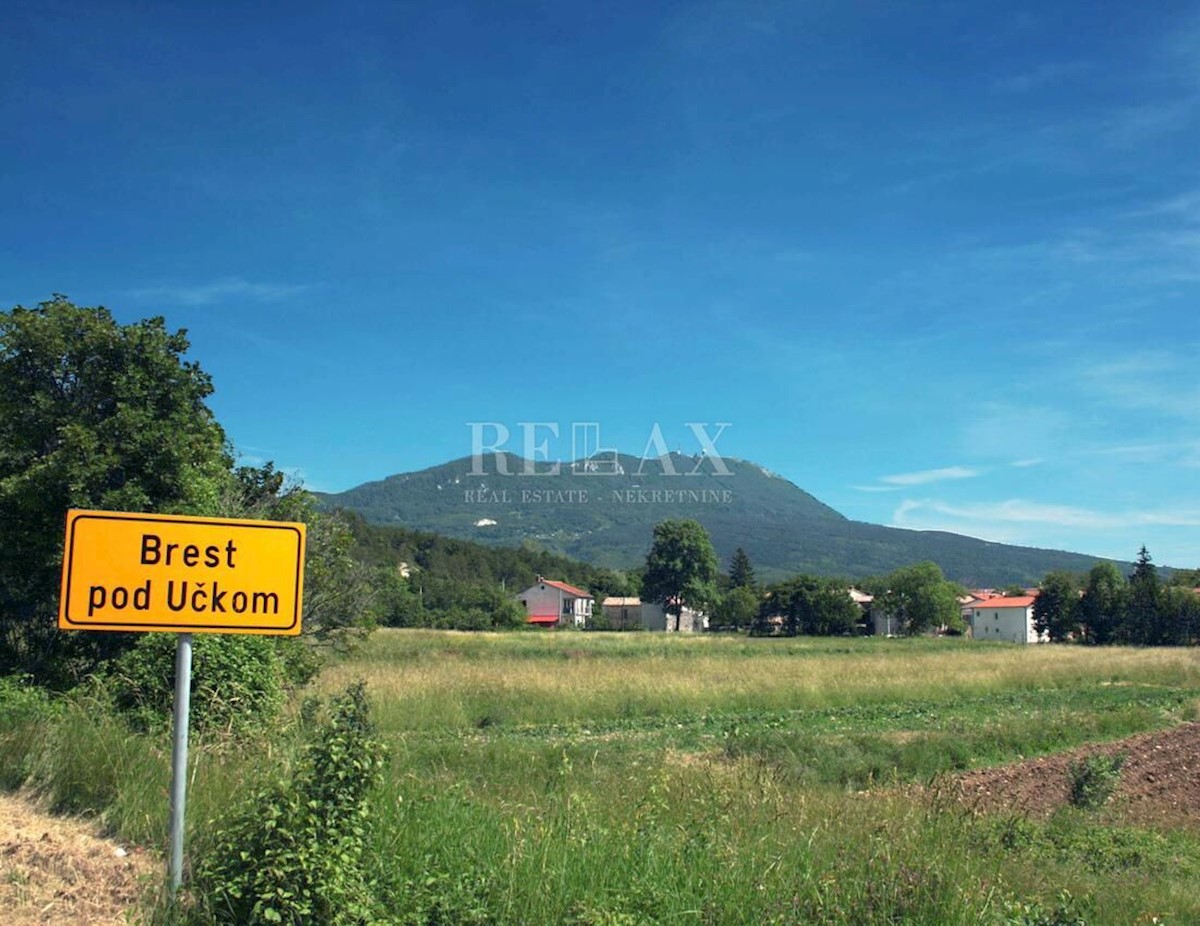
[[[943,787],[1196,720],[1195,650],[379,631],[317,687],[360,678],[389,746],[368,859],[391,921],[1200,922],[1200,832],[1120,806],[979,814]],[[70,708],[4,758],[162,844],[164,742],[109,722]],[[193,757],[203,841],[289,751]]]

